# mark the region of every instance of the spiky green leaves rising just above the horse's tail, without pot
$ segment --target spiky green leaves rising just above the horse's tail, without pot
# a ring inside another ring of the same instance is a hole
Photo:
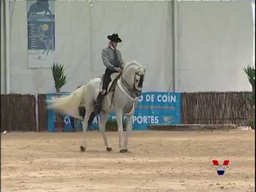
[[[57,94],[59,94],[61,87],[67,83],[67,75],[64,74],[64,65],[54,62],[51,68],[55,89]]]

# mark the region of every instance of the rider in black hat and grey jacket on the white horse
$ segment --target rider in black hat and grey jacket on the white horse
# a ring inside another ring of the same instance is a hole
[[[102,101],[107,94],[108,84],[111,81],[110,75],[116,72],[122,73],[124,68],[121,52],[116,49],[117,44],[122,42],[121,38],[118,37],[118,34],[113,34],[108,35],[108,39],[110,40],[109,45],[106,49],[102,50],[101,55],[103,64],[106,66],[106,71],[103,76],[102,91],[97,98],[95,114],[99,114],[101,111]]]

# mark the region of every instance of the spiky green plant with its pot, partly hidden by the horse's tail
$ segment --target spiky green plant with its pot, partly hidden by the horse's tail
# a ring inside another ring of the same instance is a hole
[[[67,75],[64,73],[64,65],[61,63],[53,63],[53,65],[51,66],[52,69],[52,76],[54,79],[54,86],[56,89],[56,97],[61,97],[60,96],[60,89],[63,85],[65,85],[67,83]],[[64,130],[64,119],[63,116],[59,113],[56,113],[56,117],[55,117],[55,130],[57,132],[63,132]]]

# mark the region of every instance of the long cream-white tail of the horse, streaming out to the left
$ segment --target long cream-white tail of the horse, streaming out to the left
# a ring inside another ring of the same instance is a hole
[[[47,106],[47,108],[58,111],[62,114],[79,118],[78,106],[83,100],[85,91],[86,85],[79,87],[76,91],[65,97],[52,98],[52,100],[47,101],[51,104],[50,106]]]

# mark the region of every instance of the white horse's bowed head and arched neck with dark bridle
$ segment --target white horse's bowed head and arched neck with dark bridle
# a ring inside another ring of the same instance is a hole
[[[138,62],[131,61],[124,66],[122,82],[134,92],[137,97],[141,95],[146,69]]]

